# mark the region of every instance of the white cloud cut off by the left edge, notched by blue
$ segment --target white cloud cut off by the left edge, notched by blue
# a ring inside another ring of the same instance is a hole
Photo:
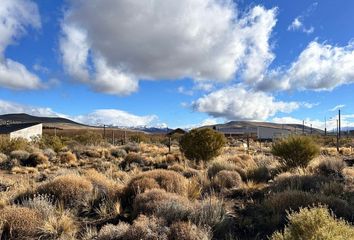
[[[29,0],[2,0],[0,3],[0,85],[11,89],[37,89],[41,80],[16,61],[7,59],[6,48],[26,33],[26,27],[40,28],[37,5]]]

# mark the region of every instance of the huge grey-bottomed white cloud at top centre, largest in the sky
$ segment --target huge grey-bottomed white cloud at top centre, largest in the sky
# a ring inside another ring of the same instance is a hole
[[[60,49],[71,76],[109,94],[141,79],[254,80],[274,58],[275,23],[276,9],[241,14],[231,0],[69,0]]]

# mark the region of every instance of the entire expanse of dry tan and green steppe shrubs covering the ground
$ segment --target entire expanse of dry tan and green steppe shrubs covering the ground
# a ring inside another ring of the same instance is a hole
[[[354,238],[351,139],[206,134],[0,138],[1,239]]]

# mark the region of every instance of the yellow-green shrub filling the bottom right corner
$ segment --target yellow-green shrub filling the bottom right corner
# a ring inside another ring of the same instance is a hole
[[[288,214],[288,225],[284,232],[274,233],[271,239],[354,239],[354,228],[336,219],[327,208],[302,208],[298,213]]]

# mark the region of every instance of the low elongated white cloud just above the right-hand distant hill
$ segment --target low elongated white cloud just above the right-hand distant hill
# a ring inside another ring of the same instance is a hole
[[[264,92],[240,86],[212,92],[193,102],[198,112],[229,120],[266,120],[278,112],[289,113],[301,106],[297,102],[276,101]]]

